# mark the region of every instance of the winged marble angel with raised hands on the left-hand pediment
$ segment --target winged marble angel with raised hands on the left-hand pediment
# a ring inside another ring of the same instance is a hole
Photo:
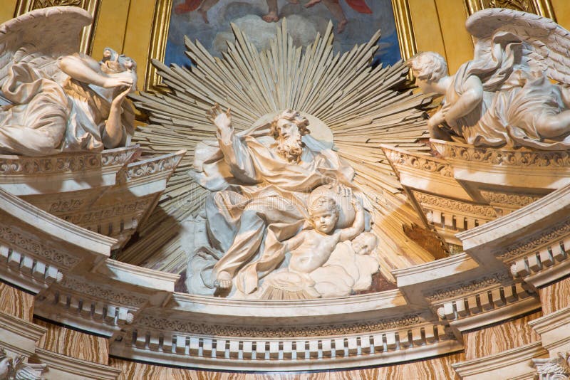
[[[83,9],[55,6],[0,26],[0,153],[41,156],[128,144],[135,62],[78,53]]]

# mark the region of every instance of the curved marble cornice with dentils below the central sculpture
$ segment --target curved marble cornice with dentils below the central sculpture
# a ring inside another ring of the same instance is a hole
[[[484,263],[482,257],[512,241],[505,236],[550,236],[554,221],[566,218],[569,191],[570,186],[460,234],[471,239],[464,253],[395,270],[396,290],[302,301],[227,300],[175,292],[179,275],[108,258],[115,239],[51,216],[1,189],[0,203],[19,228],[30,236],[62,241],[66,252],[81,263],[61,265],[57,276],[33,287],[39,292],[37,315],[110,337],[113,355],[125,359],[259,371],[277,364],[291,370],[348,368],[457,352],[462,349],[456,338],[460,332],[536,310],[536,292],[524,278],[504,278],[507,265],[496,258],[492,265]],[[564,240],[566,235],[570,233],[554,239]],[[22,276],[29,281],[47,276],[48,264],[43,269],[34,264],[35,254],[19,247],[20,241],[6,243],[22,258],[6,256],[12,266],[0,267],[3,280],[19,285]],[[528,246],[533,250],[536,245]],[[531,253],[523,249],[521,254]],[[564,271],[556,268],[566,268],[564,260],[552,260],[550,273],[562,275]],[[489,273],[499,277],[489,280]]]

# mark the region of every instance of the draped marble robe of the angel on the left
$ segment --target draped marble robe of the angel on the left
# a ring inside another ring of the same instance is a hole
[[[114,91],[73,80],[56,64],[46,69],[14,63],[0,82],[0,95],[10,102],[0,108],[0,154],[41,156],[105,149],[102,137]],[[122,107],[121,147],[129,144],[135,120],[128,102]]]

